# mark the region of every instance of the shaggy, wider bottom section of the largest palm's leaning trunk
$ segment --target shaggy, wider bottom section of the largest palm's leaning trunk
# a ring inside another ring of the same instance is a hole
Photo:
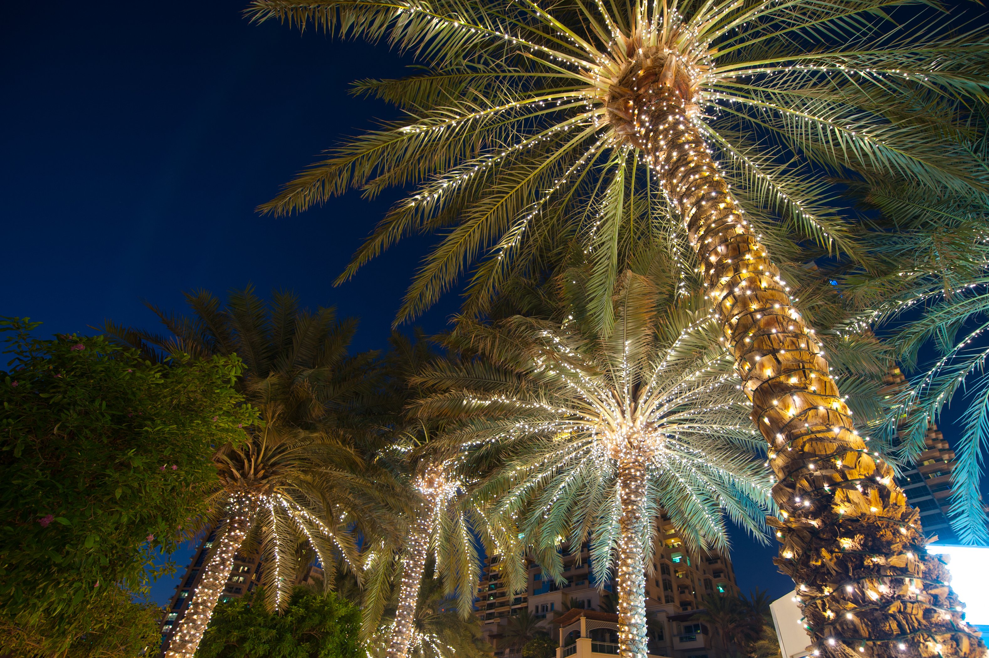
[[[880,501],[869,496],[838,489],[834,497],[815,519],[767,520],[783,544],[773,561],[797,583],[804,625],[822,638],[812,655],[984,656],[944,562],[925,549],[919,512],[887,506],[890,516],[877,516]],[[868,512],[854,509],[862,506]]]

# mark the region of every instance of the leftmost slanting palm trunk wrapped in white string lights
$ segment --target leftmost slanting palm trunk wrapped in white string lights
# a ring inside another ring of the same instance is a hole
[[[196,587],[185,616],[175,628],[175,634],[165,651],[166,658],[192,658],[199,648],[199,642],[213,616],[213,609],[217,607],[226,580],[230,577],[233,555],[247,535],[257,504],[258,501],[253,496],[236,495],[230,498],[225,533],[220,536],[219,543],[210,555],[206,573]]]

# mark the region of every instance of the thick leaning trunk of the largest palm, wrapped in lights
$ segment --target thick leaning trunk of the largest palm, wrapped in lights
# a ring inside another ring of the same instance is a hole
[[[669,77],[668,77],[669,79]],[[662,82],[636,99],[647,154],[697,251],[725,347],[777,483],[775,562],[792,576],[826,656],[981,656],[947,572],[926,552],[919,514],[890,466],[854,431],[814,330],[746,221],[680,92]]]

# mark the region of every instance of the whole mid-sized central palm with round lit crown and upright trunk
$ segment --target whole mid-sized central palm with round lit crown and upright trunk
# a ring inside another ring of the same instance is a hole
[[[543,568],[561,577],[560,543],[589,537],[598,577],[616,572],[623,656],[646,654],[645,569],[660,508],[692,548],[727,547],[725,515],[763,536],[769,482],[752,460],[748,400],[706,310],[658,307],[653,280],[626,272],[615,330],[594,329],[588,278],[569,271],[554,319],[462,319],[457,340],[479,358],[418,378],[439,392],[419,413],[463,426],[494,473],[475,495],[489,524],[517,524]]]

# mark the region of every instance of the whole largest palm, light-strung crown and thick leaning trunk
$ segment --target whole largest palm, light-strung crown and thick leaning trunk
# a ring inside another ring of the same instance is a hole
[[[358,83],[405,117],[334,150],[262,209],[414,186],[342,275],[442,230],[400,319],[472,264],[467,310],[484,312],[509,273],[544,271],[558,236],[581,235],[604,328],[622,250],[674,216],[770,447],[779,565],[816,650],[979,654],[917,511],[855,432],[792,277],[770,258],[793,253],[786,234],[858,257],[827,170],[985,189],[954,120],[986,98],[986,31],[901,4],[253,0],[256,21],[387,39],[428,68]],[[903,578],[919,580],[904,590]]]

